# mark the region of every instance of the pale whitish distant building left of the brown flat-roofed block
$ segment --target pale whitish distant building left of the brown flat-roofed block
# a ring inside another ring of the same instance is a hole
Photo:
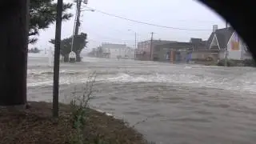
[[[109,54],[109,58],[125,58],[126,45],[114,43],[102,43],[102,51],[104,54]]]

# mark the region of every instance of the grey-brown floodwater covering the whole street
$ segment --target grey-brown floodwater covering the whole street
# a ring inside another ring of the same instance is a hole
[[[123,118],[150,141],[256,142],[254,68],[105,58],[83,61],[61,64],[60,102],[68,102],[74,91],[82,94],[88,76],[95,72],[91,107]],[[52,99],[53,67],[47,63],[47,58],[29,58],[29,100]]]

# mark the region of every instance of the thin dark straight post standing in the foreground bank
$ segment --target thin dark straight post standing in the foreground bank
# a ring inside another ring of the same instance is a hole
[[[62,5],[63,0],[58,0],[54,45],[54,92],[53,92],[53,116],[58,118],[58,79],[59,79],[59,55],[62,36]]]

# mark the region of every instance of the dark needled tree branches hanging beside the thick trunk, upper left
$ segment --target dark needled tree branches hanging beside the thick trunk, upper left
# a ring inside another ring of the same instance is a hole
[[[29,36],[39,34],[39,30],[46,29],[55,22],[57,3],[54,0],[30,0],[30,33]],[[66,11],[72,7],[71,3],[63,4],[63,20],[69,20],[72,14]],[[29,43],[37,42],[38,38],[30,38]]]

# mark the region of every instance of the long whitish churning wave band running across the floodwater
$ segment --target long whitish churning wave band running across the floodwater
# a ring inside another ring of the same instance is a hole
[[[60,84],[82,83],[88,80],[92,70],[83,71],[60,71]],[[136,73],[118,73],[113,71],[96,71],[96,81],[104,82],[164,82],[181,84],[193,87],[209,87],[224,90],[244,90],[256,92],[256,82],[250,78],[252,74],[242,75],[237,78],[212,78],[209,75],[202,74],[136,74]],[[53,72],[41,71],[38,73],[31,72],[28,76],[28,86],[52,85]],[[38,79],[41,79],[38,81]]]

